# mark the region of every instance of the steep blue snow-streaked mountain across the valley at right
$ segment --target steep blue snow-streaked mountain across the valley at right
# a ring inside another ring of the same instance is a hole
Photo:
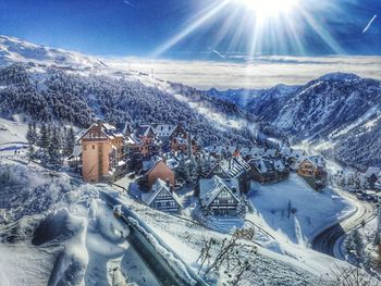
[[[303,86],[258,92],[245,107],[251,114],[345,164],[362,170],[381,165],[380,80],[333,73]]]

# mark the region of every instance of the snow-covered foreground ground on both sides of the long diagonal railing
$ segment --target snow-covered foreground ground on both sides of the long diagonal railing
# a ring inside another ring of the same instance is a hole
[[[99,198],[100,190],[119,188],[82,184],[63,173],[51,177],[40,166],[8,160],[2,160],[0,172],[10,175],[0,189],[1,216],[8,221],[0,224],[2,285],[25,285],[25,281],[28,285],[48,281],[53,285],[67,281],[73,285],[112,285],[113,279],[156,285],[152,274],[121,239],[126,229]],[[151,210],[124,195],[121,198],[195,270],[205,239],[229,237]],[[328,285],[320,277],[322,272],[314,272],[293,256],[259,247],[250,261],[255,264],[250,285]]]

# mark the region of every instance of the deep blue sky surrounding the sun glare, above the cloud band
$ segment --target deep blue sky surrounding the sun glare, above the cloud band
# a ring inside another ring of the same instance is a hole
[[[255,51],[249,47],[258,23],[253,11],[239,5],[238,0],[231,0],[196,28],[183,33],[221,2],[1,0],[0,34],[97,55],[180,60],[258,54],[381,55],[381,1],[299,0],[305,14],[295,8],[291,20],[298,48],[288,26],[272,18],[261,28]],[[373,15],[378,16],[362,33]],[[176,35],[183,37],[173,40]]]

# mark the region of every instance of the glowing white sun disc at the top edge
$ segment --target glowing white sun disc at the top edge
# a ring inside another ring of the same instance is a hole
[[[297,8],[298,0],[234,0],[251,10],[257,17],[269,18],[286,15]]]

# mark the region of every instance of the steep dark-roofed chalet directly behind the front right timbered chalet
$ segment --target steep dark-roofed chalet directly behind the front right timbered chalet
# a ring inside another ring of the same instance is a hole
[[[219,176],[221,178],[236,178],[239,184],[239,190],[247,192],[250,189],[250,165],[241,157],[220,160],[209,172],[206,178]]]

